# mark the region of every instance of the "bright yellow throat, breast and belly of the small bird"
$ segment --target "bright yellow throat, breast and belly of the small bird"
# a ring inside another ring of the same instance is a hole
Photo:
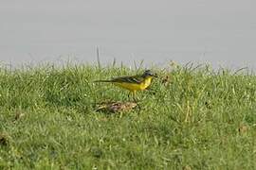
[[[141,83],[129,83],[129,82],[113,82],[116,86],[127,89],[133,93],[136,91],[143,91],[151,84],[152,76],[146,77]]]

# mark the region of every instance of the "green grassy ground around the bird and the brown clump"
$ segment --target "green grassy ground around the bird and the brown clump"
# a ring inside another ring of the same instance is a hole
[[[155,69],[140,109],[96,111],[127,92],[92,81],[127,68],[0,69],[0,169],[255,169],[256,76]]]

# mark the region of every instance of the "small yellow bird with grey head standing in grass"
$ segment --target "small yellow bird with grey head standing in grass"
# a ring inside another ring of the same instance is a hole
[[[153,73],[151,70],[145,70],[142,75],[119,76],[108,80],[95,80],[94,82],[113,83],[120,88],[130,91],[135,97],[137,91],[144,91],[151,85],[153,77],[157,77],[155,73]]]

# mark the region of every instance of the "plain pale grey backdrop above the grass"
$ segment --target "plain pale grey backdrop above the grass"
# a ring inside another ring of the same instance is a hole
[[[1,1],[0,59],[256,68],[255,0]]]

